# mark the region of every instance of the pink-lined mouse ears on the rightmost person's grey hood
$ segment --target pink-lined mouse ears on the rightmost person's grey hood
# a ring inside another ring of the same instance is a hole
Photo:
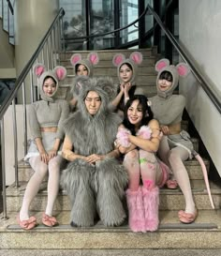
[[[171,65],[169,66],[169,60],[168,59],[161,59],[158,60],[155,64],[155,70],[157,72],[163,70],[164,68],[169,68],[172,67]],[[173,66],[174,67],[174,66]],[[184,62],[179,63],[177,66],[175,66],[174,68],[176,68],[178,74],[181,77],[186,77],[188,75],[188,73],[190,72],[190,68],[188,67],[187,64],[185,64]]]

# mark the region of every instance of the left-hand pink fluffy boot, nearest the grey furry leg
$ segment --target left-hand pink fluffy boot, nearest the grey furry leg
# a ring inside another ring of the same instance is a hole
[[[141,188],[137,191],[126,190],[129,211],[129,227],[133,232],[146,232]]]

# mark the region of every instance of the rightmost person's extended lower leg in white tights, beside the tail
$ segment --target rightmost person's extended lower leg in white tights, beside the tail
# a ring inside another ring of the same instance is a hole
[[[185,212],[193,214],[195,212],[195,203],[193,200],[192,190],[188,173],[184,167],[183,160],[188,158],[188,152],[182,147],[175,147],[170,150],[169,163],[174,173],[185,200]]]

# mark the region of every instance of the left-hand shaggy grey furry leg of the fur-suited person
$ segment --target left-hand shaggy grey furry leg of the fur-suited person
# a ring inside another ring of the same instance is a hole
[[[62,184],[71,202],[70,221],[80,227],[94,225],[96,201],[91,188],[91,177],[95,168],[74,161],[62,173]]]

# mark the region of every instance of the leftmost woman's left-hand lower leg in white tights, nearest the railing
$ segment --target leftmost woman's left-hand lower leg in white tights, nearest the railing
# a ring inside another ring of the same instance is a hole
[[[48,166],[40,160],[40,157],[33,157],[29,159],[30,165],[35,173],[30,178],[27,187],[24,192],[22,208],[20,210],[20,219],[29,218],[29,207],[33,199],[37,195],[37,191],[40,187],[42,180],[48,172]]]

